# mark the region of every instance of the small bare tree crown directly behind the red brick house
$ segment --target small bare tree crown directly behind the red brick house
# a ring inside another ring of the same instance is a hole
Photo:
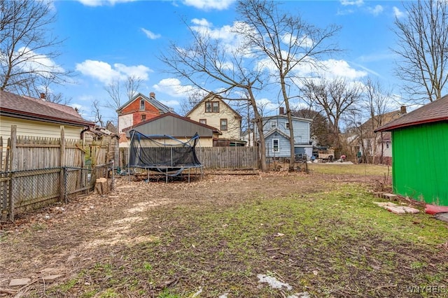
[[[110,101],[107,101],[106,108],[111,108],[113,111],[118,110],[124,104],[124,100],[129,101],[137,94],[137,90],[143,83],[143,80],[137,76],[128,76],[126,80],[113,80],[109,85],[104,87],[109,94]]]

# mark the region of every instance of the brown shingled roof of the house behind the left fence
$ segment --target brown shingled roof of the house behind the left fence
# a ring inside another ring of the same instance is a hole
[[[20,96],[0,90],[0,114],[29,120],[55,122],[75,126],[90,126],[74,108],[42,99]]]

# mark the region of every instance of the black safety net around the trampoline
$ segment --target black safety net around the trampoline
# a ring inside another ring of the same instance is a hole
[[[198,134],[186,142],[167,135],[146,136],[134,129],[130,135],[130,167],[170,173],[170,176],[177,176],[184,169],[202,167],[195,150]]]

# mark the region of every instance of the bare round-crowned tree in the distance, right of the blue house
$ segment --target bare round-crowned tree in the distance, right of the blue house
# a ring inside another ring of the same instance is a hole
[[[332,147],[337,154],[342,149],[340,125],[344,113],[348,113],[361,96],[361,87],[357,83],[348,83],[342,78],[327,80],[304,79],[302,99],[325,115],[331,129]]]

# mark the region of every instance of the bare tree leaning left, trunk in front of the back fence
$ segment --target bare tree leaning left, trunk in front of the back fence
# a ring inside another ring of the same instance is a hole
[[[218,85],[222,90],[220,95],[230,94],[231,91],[238,94],[232,98],[223,96],[223,99],[250,102],[260,137],[260,163],[262,171],[267,171],[262,116],[255,100],[255,92],[260,90],[263,81],[262,71],[246,67],[246,45],[231,50],[221,41],[212,38],[207,31],[197,31],[189,26],[188,28],[193,43],[186,48],[172,43],[169,50],[160,55],[160,60],[169,67],[169,72],[204,92],[208,93],[207,88]]]

